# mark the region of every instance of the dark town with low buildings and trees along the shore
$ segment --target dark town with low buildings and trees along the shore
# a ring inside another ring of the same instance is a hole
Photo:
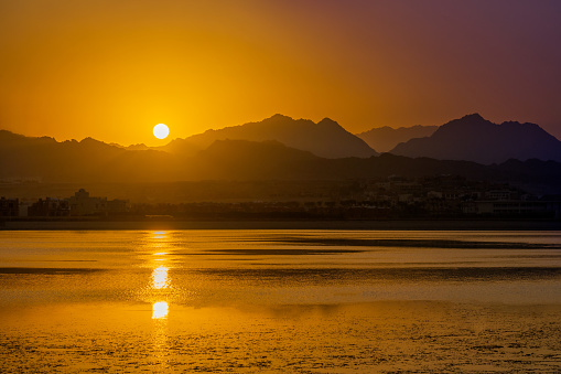
[[[291,193],[282,192],[287,185]],[[560,195],[536,195],[508,184],[474,182],[457,175],[293,181],[279,184],[278,190],[258,199],[174,203],[108,200],[90,196],[85,189],[68,197],[34,201],[3,196],[0,221],[561,218]]]

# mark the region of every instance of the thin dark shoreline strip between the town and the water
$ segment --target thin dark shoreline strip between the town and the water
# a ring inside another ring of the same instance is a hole
[[[375,229],[375,231],[561,231],[561,221],[4,221],[0,231],[106,229]]]

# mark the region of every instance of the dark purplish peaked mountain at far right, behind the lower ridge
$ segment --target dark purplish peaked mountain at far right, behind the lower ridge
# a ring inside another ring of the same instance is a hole
[[[561,141],[535,124],[496,125],[474,114],[441,126],[430,137],[400,143],[390,152],[484,164],[509,159],[561,161]]]

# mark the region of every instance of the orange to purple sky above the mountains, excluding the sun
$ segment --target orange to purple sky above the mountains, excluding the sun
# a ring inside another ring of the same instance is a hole
[[[561,135],[558,1],[0,0],[0,128],[161,145],[276,113]]]

